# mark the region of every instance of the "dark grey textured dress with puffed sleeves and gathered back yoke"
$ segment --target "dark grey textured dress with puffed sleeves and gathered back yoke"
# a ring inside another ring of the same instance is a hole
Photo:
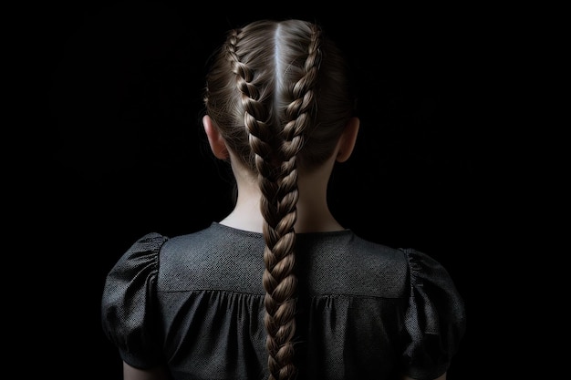
[[[460,294],[439,262],[352,231],[297,235],[299,379],[432,379],[465,330]],[[264,238],[214,222],[151,233],[109,272],[102,325],[132,366],[174,379],[267,377]]]

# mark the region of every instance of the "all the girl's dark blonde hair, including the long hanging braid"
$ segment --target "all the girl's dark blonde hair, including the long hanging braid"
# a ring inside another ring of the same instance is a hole
[[[329,159],[353,116],[348,64],[315,23],[256,21],[230,31],[215,52],[204,103],[228,148],[258,178],[269,378],[292,378],[297,170]]]

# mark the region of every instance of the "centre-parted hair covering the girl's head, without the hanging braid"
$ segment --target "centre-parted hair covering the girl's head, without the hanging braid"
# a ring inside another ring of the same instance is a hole
[[[319,26],[302,20],[261,20],[230,31],[206,84],[207,114],[253,170],[250,133],[277,145],[303,133],[297,165],[312,169],[333,153],[355,104],[341,52]],[[246,113],[264,130],[248,130]]]

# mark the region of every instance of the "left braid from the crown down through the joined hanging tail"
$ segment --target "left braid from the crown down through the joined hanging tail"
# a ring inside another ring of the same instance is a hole
[[[265,107],[259,101],[259,91],[252,84],[254,73],[244,65],[236,54],[239,33],[234,32],[228,39],[226,50],[236,75],[236,86],[242,94],[244,107],[244,126],[249,134],[249,144],[255,154],[255,166],[262,199],[260,208],[264,215],[265,236],[265,328],[268,350],[270,380],[290,378],[295,367],[292,365],[293,347],[291,340],[295,334],[295,311],[293,298],[296,278],[293,275],[293,223],[282,221],[283,209],[279,207],[279,166],[275,151],[271,145],[269,126],[262,121]],[[294,211],[295,212],[295,211]],[[295,222],[295,217],[293,218]],[[287,221],[287,219],[285,220]],[[284,254],[285,253],[285,254]]]

